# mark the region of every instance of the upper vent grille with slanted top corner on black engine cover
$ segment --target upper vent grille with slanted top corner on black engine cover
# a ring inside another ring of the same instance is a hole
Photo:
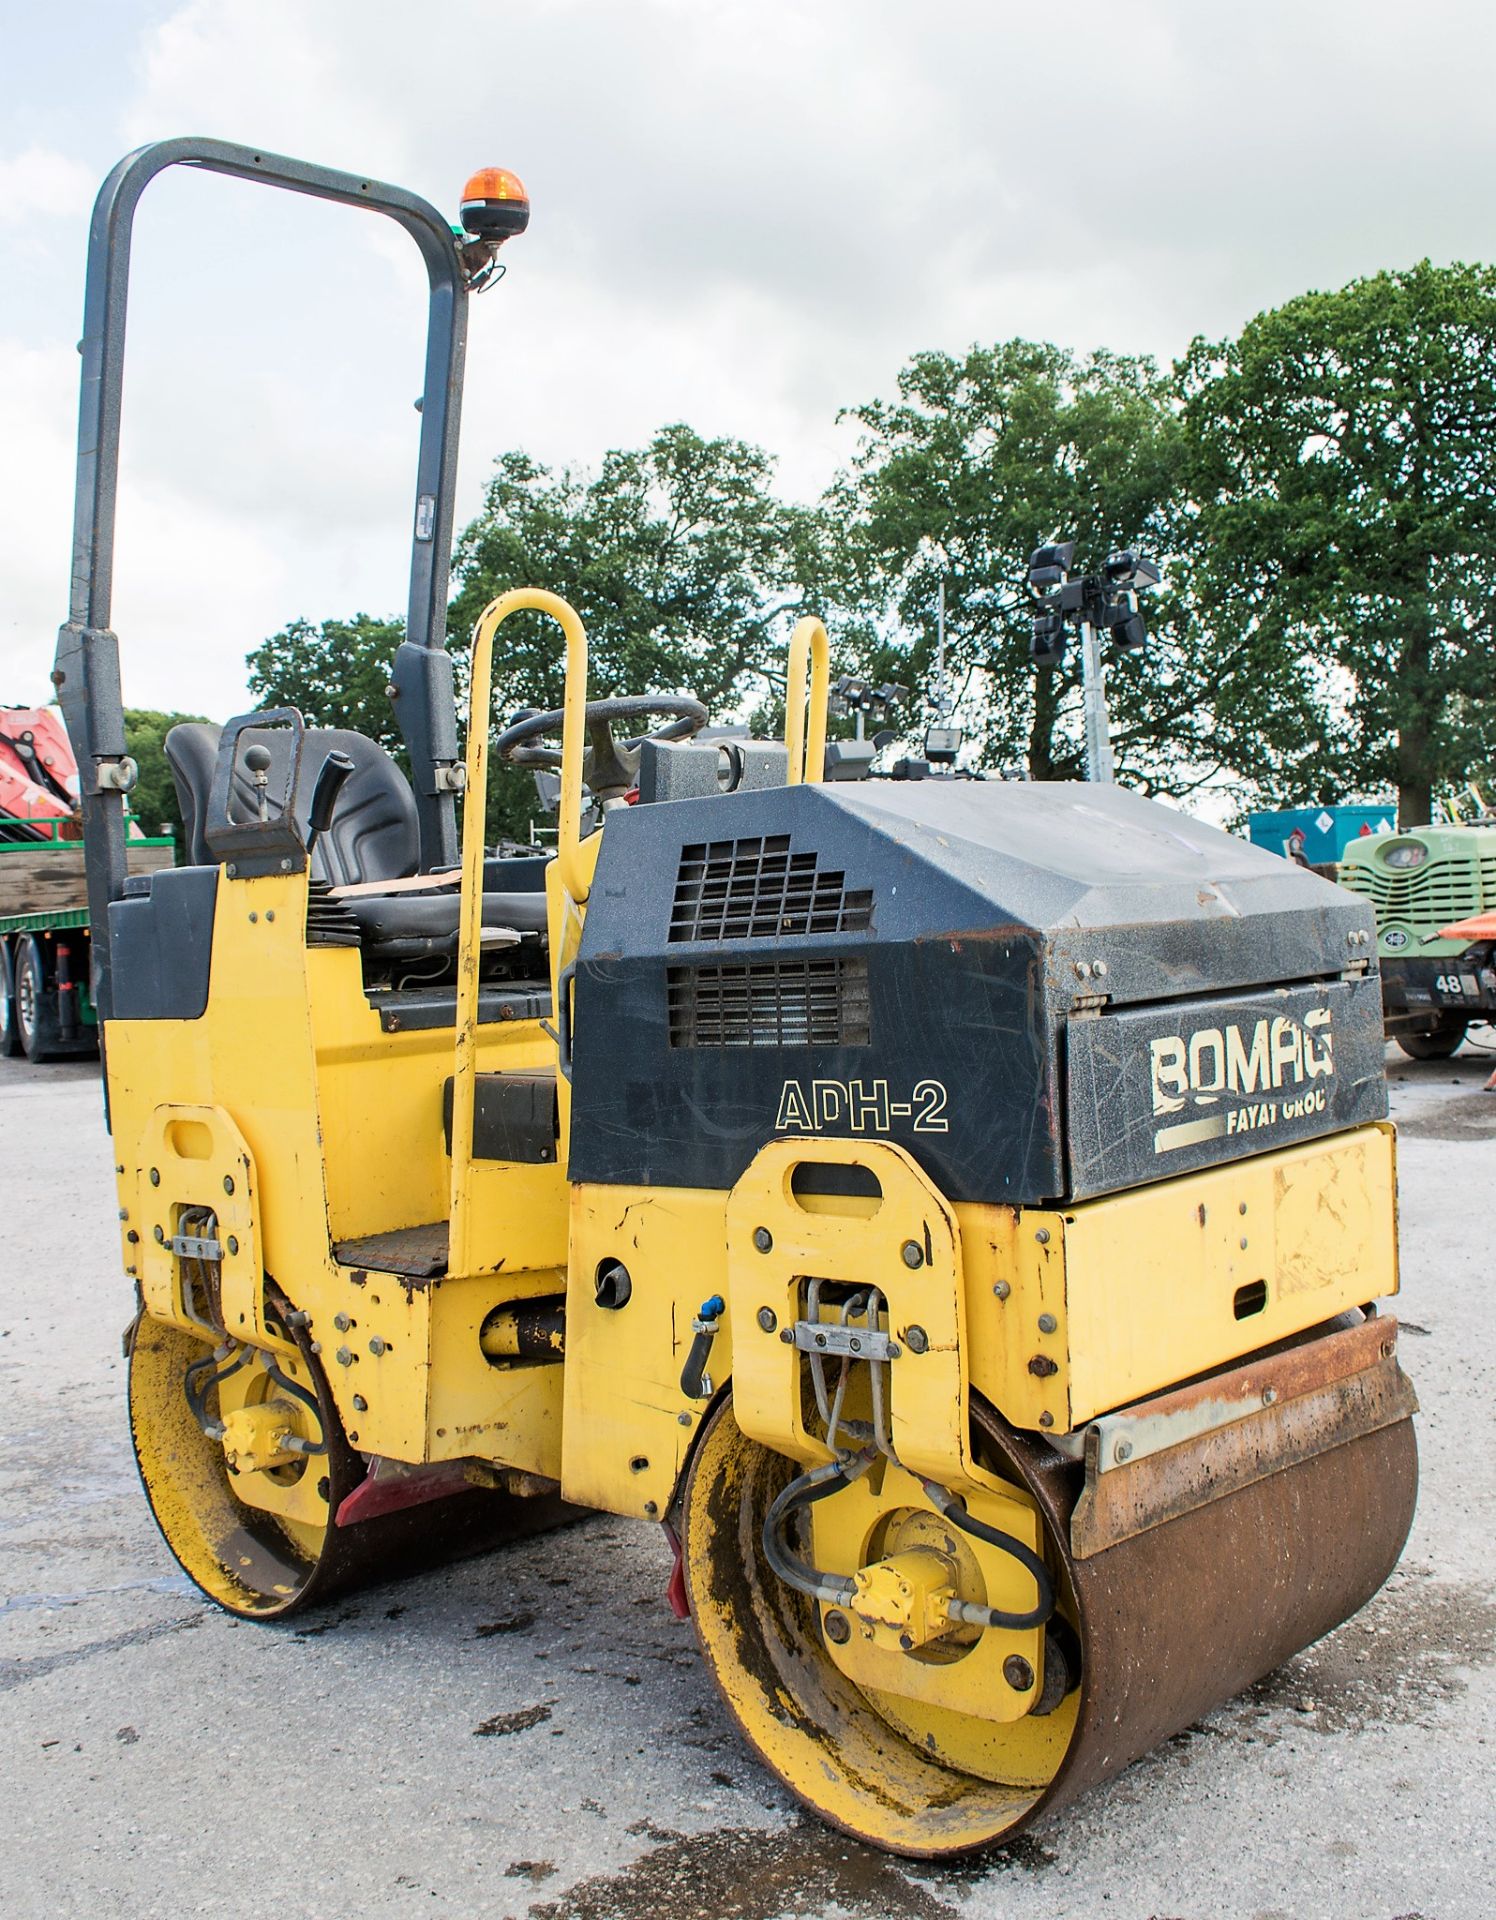
[[[789,835],[682,847],[670,941],[762,941],[797,933],[864,933],[872,891],[791,852]]]

